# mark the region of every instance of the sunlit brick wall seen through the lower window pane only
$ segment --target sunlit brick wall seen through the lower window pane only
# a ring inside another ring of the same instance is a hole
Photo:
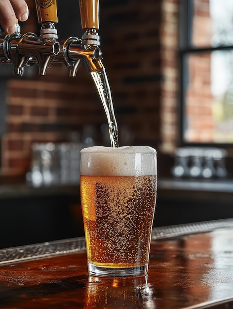
[[[213,142],[213,95],[210,89],[210,54],[190,56],[190,84],[186,91],[187,142]]]

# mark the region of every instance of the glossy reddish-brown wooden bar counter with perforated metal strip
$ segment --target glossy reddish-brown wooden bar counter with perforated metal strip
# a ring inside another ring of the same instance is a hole
[[[0,250],[0,308],[233,308],[233,219],[155,228],[146,277],[88,276],[83,237]]]

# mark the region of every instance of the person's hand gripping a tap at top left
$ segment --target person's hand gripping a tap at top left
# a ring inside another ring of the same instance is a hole
[[[25,0],[0,0],[0,25],[7,33],[16,31],[16,19],[28,19],[28,5]]]

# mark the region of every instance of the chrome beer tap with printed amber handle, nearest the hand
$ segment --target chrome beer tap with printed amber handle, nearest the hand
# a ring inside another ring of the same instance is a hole
[[[49,1],[48,7],[40,0],[36,0],[36,5],[41,25],[39,37],[30,32],[21,35],[19,25],[16,25],[14,34],[3,32],[0,35],[1,63],[12,63],[14,73],[20,76],[23,75],[26,64],[35,62],[39,66],[39,75],[45,75],[48,67],[60,52],[54,26],[57,23],[56,0]]]

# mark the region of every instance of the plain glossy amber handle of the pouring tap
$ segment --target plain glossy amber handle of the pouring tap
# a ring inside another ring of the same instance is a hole
[[[82,29],[99,29],[99,0],[78,0]]]

